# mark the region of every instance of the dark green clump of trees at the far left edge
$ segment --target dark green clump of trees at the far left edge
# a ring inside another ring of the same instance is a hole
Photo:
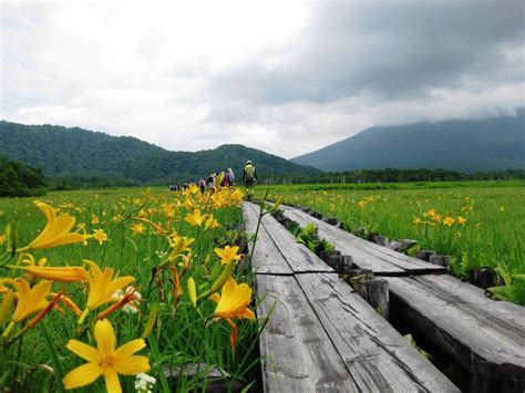
[[[42,170],[0,156],[0,197],[37,196],[45,193]]]

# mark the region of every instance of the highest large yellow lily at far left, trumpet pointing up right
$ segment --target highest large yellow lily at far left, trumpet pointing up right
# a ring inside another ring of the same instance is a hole
[[[84,240],[82,235],[70,232],[75,223],[75,218],[73,216],[63,214],[56,217],[56,213],[48,204],[35,201],[35,205],[48,219],[48,224],[40,235],[33,241],[31,241],[29,246],[19,249],[19,252],[31,249],[34,250],[59,247]]]

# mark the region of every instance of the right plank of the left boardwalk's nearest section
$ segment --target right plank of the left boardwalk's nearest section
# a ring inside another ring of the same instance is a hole
[[[296,278],[361,391],[459,392],[336,275]]]

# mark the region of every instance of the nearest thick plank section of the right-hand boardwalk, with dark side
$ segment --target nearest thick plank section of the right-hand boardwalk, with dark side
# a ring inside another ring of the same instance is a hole
[[[392,312],[470,370],[472,391],[525,390],[525,308],[449,276],[385,279]]]

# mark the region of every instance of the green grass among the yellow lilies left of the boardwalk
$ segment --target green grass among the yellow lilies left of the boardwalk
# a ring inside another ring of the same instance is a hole
[[[107,240],[99,244],[95,239],[90,239],[85,246],[79,242],[34,250],[31,254],[37,261],[47,258],[45,266],[56,267],[82,266],[84,259],[90,259],[101,269],[112,268],[120,277],[132,276],[135,279],[133,286],[142,293],[142,301],[136,302],[138,312],[125,312],[125,308],[121,308],[107,317],[115,329],[117,345],[138,339],[152,317],[152,309],[158,309],[157,317],[153,319],[153,330],[146,340],[147,345],[137,353],[148,358],[151,365],[148,374],[156,379],[156,391],[172,389],[172,381],[164,378],[163,366],[187,369],[191,363],[216,366],[229,374],[226,385],[230,386],[248,385],[257,378],[258,355],[254,342],[257,342],[259,334],[258,323],[238,316],[233,317],[238,325],[234,352],[230,344],[231,327],[224,319],[214,318],[216,302],[206,297],[199,299],[197,307],[194,307],[187,290],[189,277],[196,282],[197,294],[203,294],[212,287],[225,266],[214,252],[214,248],[233,246],[239,235],[238,224],[241,223],[239,195],[224,190],[216,193],[216,196],[223,196],[222,201],[213,199],[214,197],[209,195],[200,197],[198,193],[183,195],[156,188],[153,189],[150,201],[144,204],[146,198],[142,189],[127,188],[50,193],[41,198],[56,208],[59,215],[70,214],[76,218],[76,224],[81,226],[73,228],[72,231],[79,230],[81,234],[85,231],[90,235],[102,229]],[[192,226],[185,221],[184,218],[188,213],[194,213],[195,208],[200,208],[203,214],[213,214],[220,226],[205,229],[204,223],[202,226]],[[145,220],[141,221],[138,218]],[[166,232],[161,235],[148,221]],[[16,226],[19,248],[31,242],[45,223],[33,199],[0,199],[0,228],[3,229],[8,224]],[[138,224],[142,224],[143,231],[134,232],[132,228]],[[6,231],[2,229],[0,229],[0,255],[7,247],[7,238],[2,237]],[[182,256],[166,262],[175,248],[168,239],[174,232],[194,238],[195,242],[187,251],[179,252]],[[16,258],[9,261],[11,265],[16,262]],[[251,286],[250,269],[243,263],[246,261],[237,262],[233,278],[238,283],[247,282]],[[165,267],[152,279],[155,269],[163,265]],[[21,273],[19,270],[2,267],[0,279],[9,277],[18,278]],[[179,286],[176,282],[177,278],[181,279]],[[34,278],[31,280],[40,281]],[[0,285],[0,310],[6,300],[6,291],[10,288],[9,283],[4,283],[3,289]],[[65,288],[65,294],[83,309],[86,302],[85,282],[68,285],[55,282],[52,292],[58,292],[61,288]],[[217,294],[220,293],[218,290]],[[78,316],[64,304],[59,304],[63,313],[58,309],[52,310],[35,329],[28,330],[20,339],[13,341],[17,333],[37,314],[35,312],[25,321],[18,323],[4,340],[0,340],[2,348],[0,390],[62,390],[61,378],[75,366],[85,363],[65,345],[69,340],[74,339],[95,347],[93,339],[95,316],[110,303],[90,312],[81,327],[78,324]],[[9,308],[3,321],[0,312],[0,331],[6,330],[13,310],[14,304]],[[205,371],[202,373],[206,374]],[[124,391],[134,390],[134,376],[120,375],[120,380]],[[207,383],[208,381],[205,381],[204,385]],[[104,379],[100,378],[80,391],[99,392],[104,391]],[[188,391],[198,386],[196,380],[187,378],[183,369],[177,387],[181,391]]]

